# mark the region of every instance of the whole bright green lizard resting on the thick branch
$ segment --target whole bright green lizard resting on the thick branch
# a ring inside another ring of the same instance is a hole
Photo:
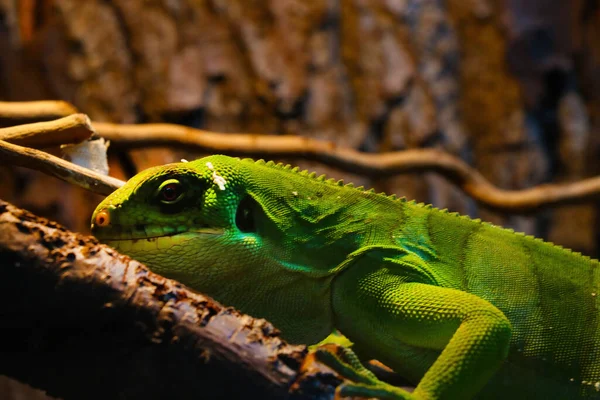
[[[600,398],[600,263],[530,236],[220,155],[141,172],[92,231],[291,342],[339,329],[416,384],[359,367],[342,395]]]

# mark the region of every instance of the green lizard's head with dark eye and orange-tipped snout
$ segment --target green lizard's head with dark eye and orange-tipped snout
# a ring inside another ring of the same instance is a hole
[[[215,266],[252,258],[255,244],[254,204],[233,160],[212,156],[142,171],[98,205],[92,233],[159,274],[210,291],[229,271]]]

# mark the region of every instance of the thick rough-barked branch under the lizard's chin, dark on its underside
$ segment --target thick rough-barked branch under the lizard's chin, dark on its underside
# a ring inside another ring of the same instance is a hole
[[[328,399],[341,382],[270,323],[3,201],[0,321],[0,374],[65,400]]]

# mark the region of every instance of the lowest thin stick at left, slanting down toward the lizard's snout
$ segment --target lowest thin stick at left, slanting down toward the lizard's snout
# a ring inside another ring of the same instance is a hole
[[[0,164],[35,169],[103,195],[112,193],[125,183],[43,151],[17,146],[2,140],[0,140]]]

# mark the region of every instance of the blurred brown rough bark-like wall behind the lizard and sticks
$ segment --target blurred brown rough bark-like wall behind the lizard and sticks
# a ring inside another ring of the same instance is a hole
[[[577,181],[600,173],[600,1],[0,0],[0,100],[38,99],[95,121],[440,148],[504,189]],[[114,151],[111,174],[200,155]],[[434,174],[300,164],[598,256],[598,203],[504,215]],[[81,232],[101,199],[20,168],[0,182]],[[41,398],[17,385],[0,399]]]

